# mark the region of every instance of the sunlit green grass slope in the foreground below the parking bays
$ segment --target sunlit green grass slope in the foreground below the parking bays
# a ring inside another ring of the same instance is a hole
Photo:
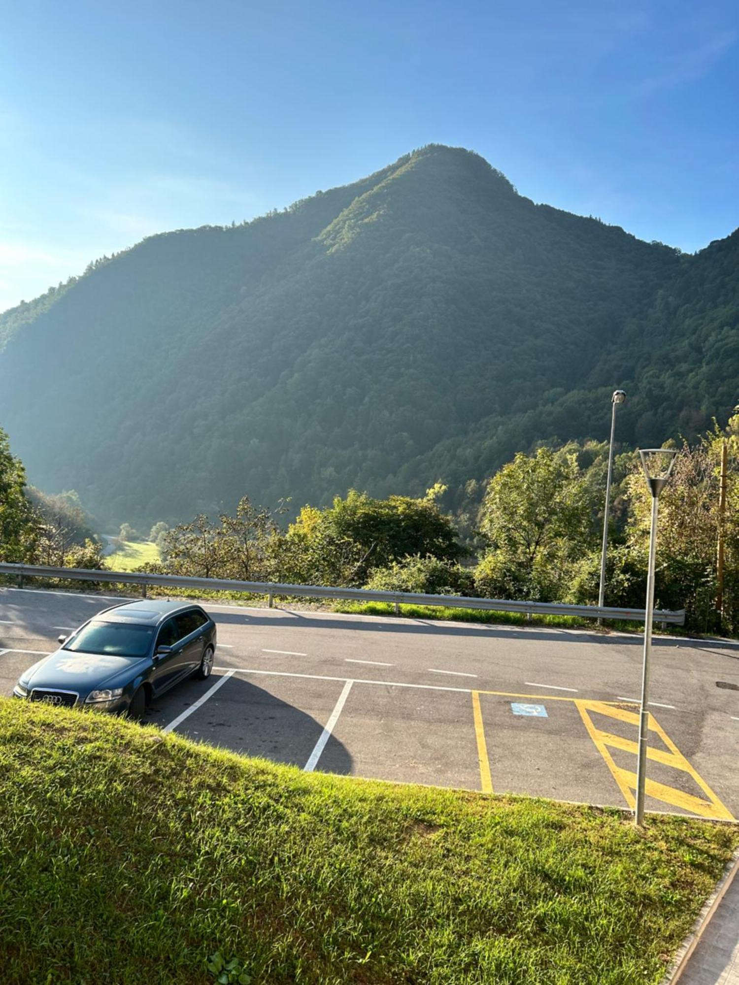
[[[4,985],[657,983],[739,843],[7,699],[0,817]]]

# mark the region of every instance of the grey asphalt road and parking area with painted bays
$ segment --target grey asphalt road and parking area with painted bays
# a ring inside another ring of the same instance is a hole
[[[0,589],[0,693],[117,599]],[[236,606],[149,721],[301,768],[633,806],[641,640]],[[648,810],[739,816],[739,644],[656,637]]]

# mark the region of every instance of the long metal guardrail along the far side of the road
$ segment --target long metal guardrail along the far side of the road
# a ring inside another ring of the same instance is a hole
[[[345,599],[352,602],[389,602],[399,612],[401,605],[444,606],[449,609],[487,609],[492,612],[524,613],[528,616],[584,616],[589,619],[631,620],[643,623],[643,609],[615,609],[609,606],[574,606],[560,602],[517,602],[510,599],[473,599],[464,595],[422,595],[416,592],[375,592],[368,588],[327,588],[323,585],[283,585],[271,581],[232,581],[228,578],[195,578],[176,574],[142,574],[132,571],[86,570],[47,567],[44,564],[0,563],[0,574],[18,578],[63,578],[65,580],[113,582],[140,585],[146,596],[148,585],[157,588],[201,588],[206,591],[248,592],[266,595],[269,605],[275,596],[311,599]],[[655,623],[685,624],[685,610],[655,610]]]

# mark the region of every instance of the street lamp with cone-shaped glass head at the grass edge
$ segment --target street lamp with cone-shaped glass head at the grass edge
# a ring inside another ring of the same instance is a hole
[[[651,623],[654,612],[654,555],[657,545],[657,503],[659,494],[670,478],[677,451],[672,448],[639,450],[641,468],[651,493],[651,527],[649,528],[649,566],[646,572],[646,613],[644,616],[644,660],[641,670],[641,706],[638,718],[637,808],[634,820],[644,819],[644,786],[646,784],[646,732],[649,727],[649,654],[651,652]]]

